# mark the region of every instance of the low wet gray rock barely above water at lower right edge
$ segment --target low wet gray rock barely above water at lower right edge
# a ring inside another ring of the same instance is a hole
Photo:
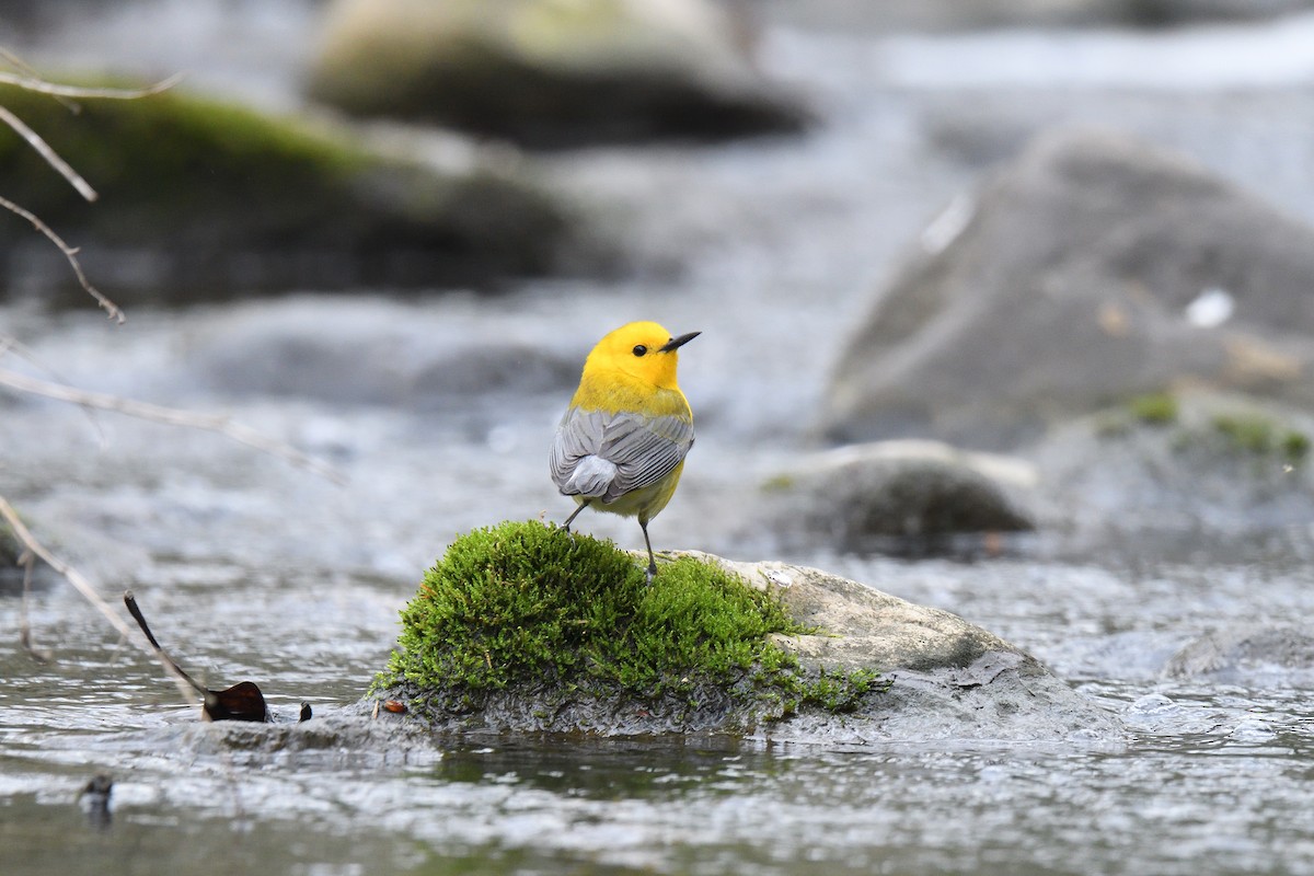
[[[1184,645],[1164,674],[1238,682],[1277,671],[1314,670],[1314,633],[1289,624],[1239,624],[1204,633]]]

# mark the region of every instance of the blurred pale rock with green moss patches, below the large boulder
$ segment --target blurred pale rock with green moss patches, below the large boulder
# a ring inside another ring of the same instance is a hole
[[[1259,561],[1307,538],[1311,436],[1314,416],[1280,403],[1208,391],[1137,399],[1031,449],[1035,514],[1083,554]]]

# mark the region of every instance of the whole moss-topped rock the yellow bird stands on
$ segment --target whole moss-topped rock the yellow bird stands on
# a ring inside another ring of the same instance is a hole
[[[405,707],[380,720],[439,730],[851,742],[1116,728],[1033,658],[946,612],[706,554],[662,563],[648,586],[631,554],[539,523],[457,538],[402,626],[371,699]],[[886,670],[897,670],[892,686]]]

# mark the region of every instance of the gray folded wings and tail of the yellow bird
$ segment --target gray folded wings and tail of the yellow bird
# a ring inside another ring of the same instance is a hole
[[[552,440],[552,481],[566,495],[615,502],[670,474],[691,447],[694,424],[675,416],[572,407]]]

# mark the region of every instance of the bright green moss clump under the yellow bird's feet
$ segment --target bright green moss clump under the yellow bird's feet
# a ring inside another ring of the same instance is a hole
[[[765,717],[854,708],[875,672],[809,672],[769,638],[805,632],[717,566],[679,558],[648,584],[608,541],[509,521],[457,538],[426,573],[376,686],[448,708],[518,686],[691,705],[717,688]]]

